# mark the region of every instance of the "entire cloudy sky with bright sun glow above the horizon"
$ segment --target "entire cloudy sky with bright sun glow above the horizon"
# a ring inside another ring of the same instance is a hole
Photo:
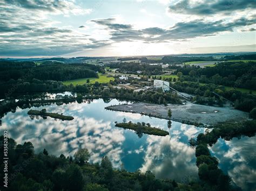
[[[255,0],[0,0],[0,57],[256,51]]]

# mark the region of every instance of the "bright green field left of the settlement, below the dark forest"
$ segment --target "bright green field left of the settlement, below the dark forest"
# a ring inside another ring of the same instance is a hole
[[[98,73],[98,75],[99,75],[99,78],[96,78],[96,77],[86,77],[86,78],[80,78],[80,79],[76,79],[76,80],[64,81],[63,84],[64,85],[69,85],[69,84],[72,83],[74,86],[82,85],[82,84],[86,83],[87,79],[90,80],[90,83],[95,83],[95,82],[109,83],[110,80],[114,80],[113,77],[107,77],[106,74]]]

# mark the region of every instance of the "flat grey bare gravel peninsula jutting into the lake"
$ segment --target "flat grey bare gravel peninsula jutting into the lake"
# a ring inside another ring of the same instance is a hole
[[[222,122],[238,122],[248,119],[248,113],[235,110],[232,107],[211,107],[187,102],[185,105],[168,104],[167,106],[150,103],[133,103],[113,105],[106,109],[133,112],[152,117],[169,119],[167,112],[172,111],[172,121],[197,126],[215,125]]]

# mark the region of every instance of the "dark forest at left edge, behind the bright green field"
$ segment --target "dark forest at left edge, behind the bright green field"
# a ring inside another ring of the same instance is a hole
[[[36,65],[33,62],[0,62],[0,81],[55,80],[65,81],[83,77],[98,77],[100,67],[86,63],[63,64],[59,62]]]

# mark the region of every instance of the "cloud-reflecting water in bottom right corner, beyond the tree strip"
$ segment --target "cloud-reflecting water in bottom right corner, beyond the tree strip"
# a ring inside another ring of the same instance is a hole
[[[219,167],[243,190],[256,190],[256,137],[219,139],[211,147]]]

